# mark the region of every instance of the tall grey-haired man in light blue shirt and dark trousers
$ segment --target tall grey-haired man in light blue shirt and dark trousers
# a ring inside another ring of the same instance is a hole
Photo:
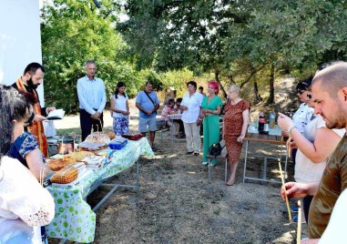
[[[77,80],[77,95],[79,100],[79,121],[82,130],[82,141],[94,131],[102,131],[104,126],[103,111],[106,105],[106,91],[102,79],[95,73],[97,64],[93,60],[86,63],[87,76]]]

